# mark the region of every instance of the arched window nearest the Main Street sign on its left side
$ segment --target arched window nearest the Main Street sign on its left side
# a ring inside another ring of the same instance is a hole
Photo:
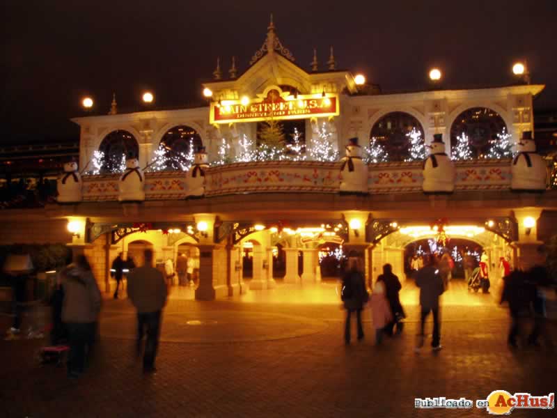
[[[164,151],[162,169],[184,170],[194,163],[194,153],[203,146],[201,137],[193,127],[177,125],[162,136],[159,151]]]

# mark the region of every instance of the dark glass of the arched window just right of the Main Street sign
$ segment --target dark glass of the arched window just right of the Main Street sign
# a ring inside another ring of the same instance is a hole
[[[370,138],[375,138],[389,154],[389,161],[405,161],[410,157],[410,132],[415,130],[423,138],[423,127],[418,119],[402,111],[386,114],[373,125]]]

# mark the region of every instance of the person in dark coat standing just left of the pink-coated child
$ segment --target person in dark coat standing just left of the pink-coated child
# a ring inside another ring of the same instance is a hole
[[[363,339],[363,327],[361,325],[361,311],[363,304],[368,302],[369,294],[366,289],[366,281],[363,273],[359,268],[359,258],[350,257],[349,270],[345,272],[343,277],[341,297],[346,309],[345,323],[345,342],[350,344],[350,317],[352,312],[356,312],[356,320],[358,323],[358,341]]]

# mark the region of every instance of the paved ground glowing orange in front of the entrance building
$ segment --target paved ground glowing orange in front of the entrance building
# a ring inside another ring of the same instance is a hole
[[[40,366],[37,339],[0,341],[0,411],[6,417],[471,417],[485,410],[416,410],[414,398],[475,401],[495,389],[555,392],[555,353],[509,350],[507,311],[455,284],[445,296],[444,350],[414,353],[416,290],[405,286],[405,332],[375,346],[345,346],[334,283],[278,286],[244,297],[196,302],[177,292],[164,314],[159,372],[143,376],[132,355],[134,314],[106,300],[101,339],[79,380]],[[304,302],[306,300],[306,302]],[[2,330],[7,317],[0,317]],[[557,330],[549,327],[557,341]],[[554,411],[515,410],[516,417]]]

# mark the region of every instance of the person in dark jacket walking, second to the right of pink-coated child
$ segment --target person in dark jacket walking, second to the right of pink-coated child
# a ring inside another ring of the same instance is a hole
[[[430,259],[427,265],[416,275],[416,286],[420,288],[421,305],[421,332],[416,346],[416,352],[423,347],[425,339],[425,319],[430,312],[433,314],[433,350],[441,350],[441,320],[439,318],[439,296],[445,291],[445,286],[439,270],[433,265]]]

